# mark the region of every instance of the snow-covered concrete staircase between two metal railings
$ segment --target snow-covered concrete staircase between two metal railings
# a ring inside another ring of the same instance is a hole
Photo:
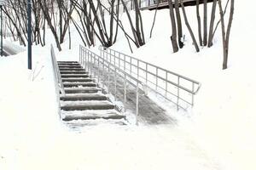
[[[84,71],[75,61],[58,61],[65,95],[61,94],[61,117],[65,122],[75,125],[91,124],[90,121],[125,124],[125,116],[115,110],[115,105],[108,101],[98,88],[95,78]],[[93,123],[95,124],[95,123]]]

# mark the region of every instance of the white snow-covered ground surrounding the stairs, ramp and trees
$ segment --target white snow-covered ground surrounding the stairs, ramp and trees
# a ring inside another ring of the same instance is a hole
[[[26,70],[26,52],[0,58],[0,169],[255,169],[255,5],[236,2],[226,71],[219,33],[212,48],[197,54],[183,27],[185,47],[172,54],[166,9],[157,14],[153,37],[133,48],[132,55],[202,83],[192,111],[168,111],[176,125],[99,124],[72,131],[57,114],[49,55],[53,38],[45,48],[33,47],[32,72]],[[195,20],[195,8],[187,12]],[[154,11],[143,11],[146,37],[153,16]],[[127,26],[125,14],[122,18]],[[196,32],[196,23],[190,24]],[[73,49],[65,43],[58,59],[79,59],[80,41],[74,30],[73,35]],[[129,54],[125,41],[120,36],[113,48]]]

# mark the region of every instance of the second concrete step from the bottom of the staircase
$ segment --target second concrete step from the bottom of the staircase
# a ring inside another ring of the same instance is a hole
[[[111,110],[114,105],[108,101],[61,102],[61,111]]]

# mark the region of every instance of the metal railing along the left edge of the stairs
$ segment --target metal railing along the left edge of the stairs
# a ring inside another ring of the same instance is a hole
[[[63,83],[61,80],[60,69],[59,69],[59,66],[56,61],[55,50],[54,50],[52,44],[50,45],[50,56],[51,56],[52,67],[54,70],[56,101],[59,105],[59,115],[60,115],[60,111],[61,111],[60,92],[62,95],[65,95],[65,90],[64,90]]]

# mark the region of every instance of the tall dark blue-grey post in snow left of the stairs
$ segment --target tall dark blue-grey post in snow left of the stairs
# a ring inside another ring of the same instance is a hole
[[[32,39],[31,39],[31,0],[27,0],[27,60],[28,69],[32,70]]]

